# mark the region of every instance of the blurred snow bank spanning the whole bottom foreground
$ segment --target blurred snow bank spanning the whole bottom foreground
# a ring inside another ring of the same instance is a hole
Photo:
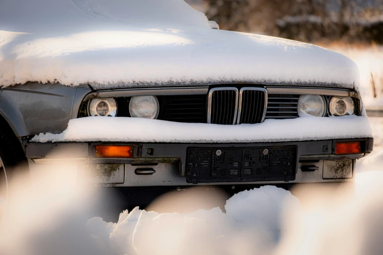
[[[293,191],[300,203],[290,191],[266,186],[234,195],[226,212],[136,208],[120,213],[117,223],[88,217],[94,194],[60,185],[64,175],[52,170],[47,183],[18,190],[0,228],[0,254],[382,254],[382,170],[358,173],[355,197],[312,184]],[[190,203],[187,197],[183,201]]]

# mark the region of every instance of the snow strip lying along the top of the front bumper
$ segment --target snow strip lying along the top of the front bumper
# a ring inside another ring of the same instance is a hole
[[[300,117],[261,124],[213,125],[124,117],[72,119],[60,134],[42,133],[32,142],[240,143],[372,137],[365,116]]]

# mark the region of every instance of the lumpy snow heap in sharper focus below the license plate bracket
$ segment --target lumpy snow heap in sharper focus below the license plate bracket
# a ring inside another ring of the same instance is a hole
[[[92,218],[87,227],[95,242],[112,247],[116,254],[261,253],[270,249],[265,243],[272,247],[288,231],[282,222],[289,213],[300,215],[302,208],[290,191],[267,186],[234,195],[226,201],[225,211],[179,214],[135,208],[121,213],[116,224]]]

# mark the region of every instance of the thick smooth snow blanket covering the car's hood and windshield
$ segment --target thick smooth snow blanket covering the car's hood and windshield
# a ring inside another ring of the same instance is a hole
[[[231,82],[352,88],[359,71],[312,44],[211,29],[183,0],[2,1],[0,85],[28,81],[97,89]]]

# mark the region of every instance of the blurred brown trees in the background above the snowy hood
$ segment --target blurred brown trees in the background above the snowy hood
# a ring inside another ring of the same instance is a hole
[[[288,39],[383,43],[383,0],[186,0],[221,29]]]

